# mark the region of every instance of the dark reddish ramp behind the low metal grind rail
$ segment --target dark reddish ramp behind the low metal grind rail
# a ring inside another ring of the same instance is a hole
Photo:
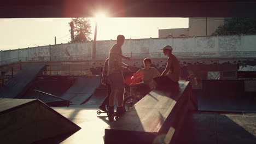
[[[73,80],[74,77],[68,76],[38,77],[28,91],[22,96],[22,99],[38,99],[39,93],[34,91],[34,89],[60,97],[73,85]],[[40,100],[47,104],[56,101],[57,99],[50,97],[49,95],[41,94]],[[64,101],[63,105],[66,105]]]

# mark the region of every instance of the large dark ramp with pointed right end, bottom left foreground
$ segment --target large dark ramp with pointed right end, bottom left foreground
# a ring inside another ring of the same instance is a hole
[[[33,143],[80,129],[38,99],[0,99],[1,143]],[[65,138],[62,138],[65,139]]]

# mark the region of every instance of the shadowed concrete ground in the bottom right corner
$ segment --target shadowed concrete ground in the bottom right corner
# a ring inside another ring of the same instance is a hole
[[[256,143],[256,113],[189,113],[177,143]]]

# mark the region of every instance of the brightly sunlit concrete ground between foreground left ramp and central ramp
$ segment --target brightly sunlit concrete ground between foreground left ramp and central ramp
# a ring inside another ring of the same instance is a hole
[[[61,115],[65,116],[80,129],[77,133],[69,136],[60,143],[104,143],[104,130],[108,126],[108,118],[106,113],[97,115],[97,105],[73,105],[71,107],[52,107]]]

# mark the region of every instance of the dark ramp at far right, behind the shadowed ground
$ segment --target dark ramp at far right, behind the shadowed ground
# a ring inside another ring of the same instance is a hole
[[[248,82],[246,83],[247,86],[245,86],[245,80],[203,80],[202,91],[197,97],[198,109],[255,112],[256,93],[247,91]]]

